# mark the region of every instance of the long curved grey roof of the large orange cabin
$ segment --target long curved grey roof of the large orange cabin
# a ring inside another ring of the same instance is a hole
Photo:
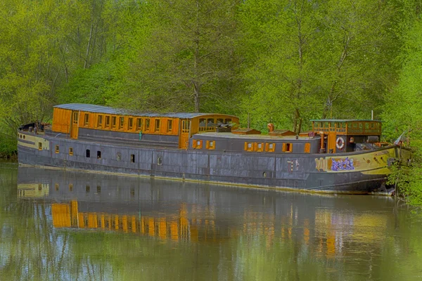
[[[159,113],[159,112],[134,112],[131,110],[124,110],[119,108],[113,108],[103,105],[89,105],[85,103],[67,103],[64,105],[54,105],[56,108],[62,108],[65,110],[81,110],[86,112],[104,113],[110,115],[131,115],[141,117],[172,117],[181,119],[191,119],[194,117],[206,116],[206,115],[219,115],[219,113],[196,113],[196,112],[171,112],[171,113]],[[224,114],[222,114],[224,115]],[[224,115],[230,117],[236,117],[234,115]]]

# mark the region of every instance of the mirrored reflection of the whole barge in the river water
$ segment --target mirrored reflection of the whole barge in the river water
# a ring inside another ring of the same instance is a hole
[[[342,255],[347,243],[362,243],[359,252],[364,252],[382,242],[389,220],[383,208],[392,206],[390,198],[305,195],[27,167],[19,168],[18,181],[21,199],[51,202],[55,228],[188,242],[244,236],[263,238],[267,247],[275,240],[294,240],[326,256]]]

